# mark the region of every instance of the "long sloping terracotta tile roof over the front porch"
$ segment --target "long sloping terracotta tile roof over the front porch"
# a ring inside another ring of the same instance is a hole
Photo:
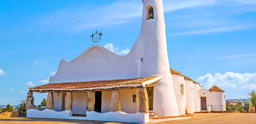
[[[82,89],[101,86],[118,86],[130,84],[142,84],[143,82],[150,81],[159,76],[149,76],[145,78],[136,79],[120,79],[120,80],[104,80],[104,81],[87,81],[87,82],[66,82],[66,83],[48,83],[42,86],[34,86],[29,89]]]

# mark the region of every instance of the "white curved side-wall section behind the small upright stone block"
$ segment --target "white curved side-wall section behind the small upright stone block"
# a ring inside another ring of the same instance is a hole
[[[195,102],[194,102],[194,84],[193,81],[190,80],[184,80],[185,81],[185,87],[186,87],[186,106],[189,106],[190,113],[193,114],[195,111]],[[192,89],[193,88],[193,89]]]

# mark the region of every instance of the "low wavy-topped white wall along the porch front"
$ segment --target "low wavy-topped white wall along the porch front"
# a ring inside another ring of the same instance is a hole
[[[39,118],[58,118],[58,119],[76,119],[76,120],[96,120],[110,122],[129,122],[129,123],[148,123],[149,113],[133,113],[127,114],[124,112],[86,112],[86,117],[72,117],[72,111],[66,110],[57,112],[55,110],[45,109],[39,111],[37,109],[27,109],[27,117]]]

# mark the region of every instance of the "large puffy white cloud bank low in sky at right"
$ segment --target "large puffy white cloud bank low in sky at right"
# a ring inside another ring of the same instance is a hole
[[[211,88],[213,85],[223,88],[240,88],[240,89],[256,89],[256,73],[233,73],[226,72],[221,75],[220,73],[215,73],[214,76],[211,74],[206,74],[203,77],[197,79],[201,85],[206,86],[205,88]]]

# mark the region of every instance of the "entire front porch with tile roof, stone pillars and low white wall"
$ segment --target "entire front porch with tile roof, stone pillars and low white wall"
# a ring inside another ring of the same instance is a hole
[[[145,86],[161,76],[136,79],[49,83],[29,88],[27,117],[149,122]],[[45,110],[33,104],[33,92],[48,93]]]

